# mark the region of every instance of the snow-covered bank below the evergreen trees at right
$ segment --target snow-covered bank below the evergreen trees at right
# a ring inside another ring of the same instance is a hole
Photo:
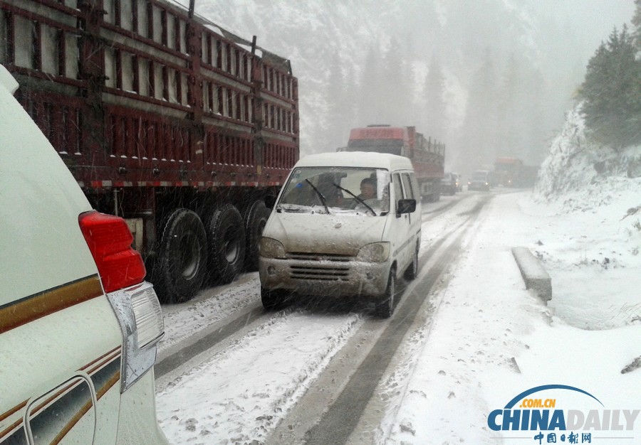
[[[591,144],[578,104],[551,144],[534,197],[546,213],[573,221],[562,243],[542,239],[536,247],[556,272],[555,289],[588,283],[589,303],[558,315],[590,329],[641,323],[641,147],[617,153]]]

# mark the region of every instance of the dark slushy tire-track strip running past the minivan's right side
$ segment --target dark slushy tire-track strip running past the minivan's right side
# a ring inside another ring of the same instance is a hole
[[[380,434],[387,411],[375,393],[377,387],[385,380],[388,368],[393,372],[395,355],[400,354],[397,351],[404,339],[417,328],[429,328],[439,301],[428,296],[434,294],[439,278],[455,263],[470,221],[489,199],[491,195],[481,197],[474,208],[459,213],[459,221],[432,242],[419,259],[423,272],[404,289],[405,296],[394,316],[389,321],[365,321],[276,426],[266,444],[375,443],[374,435]],[[453,206],[448,205],[439,215]],[[372,404],[375,406],[368,406]]]

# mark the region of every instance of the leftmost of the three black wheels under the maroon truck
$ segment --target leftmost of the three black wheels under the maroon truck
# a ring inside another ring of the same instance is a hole
[[[179,208],[167,218],[154,267],[154,284],[165,303],[182,303],[199,291],[207,271],[207,235],[192,210]]]

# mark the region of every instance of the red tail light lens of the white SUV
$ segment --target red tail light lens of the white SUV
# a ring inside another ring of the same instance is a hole
[[[105,292],[139,284],[147,270],[140,253],[131,247],[133,237],[123,218],[95,210],[78,217]]]

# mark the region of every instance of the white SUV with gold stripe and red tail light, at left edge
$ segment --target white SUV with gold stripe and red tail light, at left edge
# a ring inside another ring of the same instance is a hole
[[[0,443],[167,444],[162,312],[124,220],[91,209],[0,65]]]

